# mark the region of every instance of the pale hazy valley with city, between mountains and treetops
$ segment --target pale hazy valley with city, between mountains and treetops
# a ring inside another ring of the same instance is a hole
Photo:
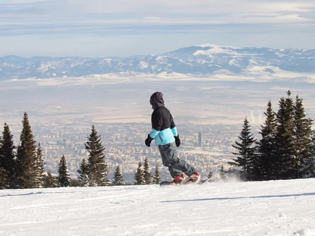
[[[209,53],[207,57],[214,60],[212,57],[224,55]],[[237,139],[245,116],[253,131],[258,132],[269,99],[276,110],[278,99],[290,89],[293,96],[304,98],[308,117],[314,118],[315,76],[311,70],[271,72],[264,67],[239,65],[239,73],[221,70],[207,75],[127,71],[82,77],[3,79],[0,123],[8,122],[18,143],[22,114],[27,111],[37,141],[44,148],[46,168],[56,173],[58,159],[65,154],[72,175],[86,156],[84,142],[94,124],[107,148],[110,167],[122,165],[125,180],[131,182],[138,161],[145,156],[151,167],[162,166],[157,149],[144,145],[151,130],[149,97],[162,91],[183,139],[180,155],[206,175],[232,158],[231,143]],[[203,147],[198,144],[199,131],[203,134]]]

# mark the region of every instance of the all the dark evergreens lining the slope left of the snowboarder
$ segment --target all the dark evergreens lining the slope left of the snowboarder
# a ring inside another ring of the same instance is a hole
[[[81,160],[78,180],[71,180],[66,157],[62,155],[58,163],[58,175],[54,176],[51,170],[44,171],[44,158],[41,144],[36,144],[34,134],[25,112],[22,120],[20,144],[16,147],[13,135],[7,123],[0,135],[0,189],[5,188],[52,188],[73,186],[111,186],[124,185],[120,166],[117,165],[113,181],[107,178],[108,165],[106,163],[106,148],[103,147],[101,136],[94,126],[85,143],[88,152],[87,160]],[[144,161],[144,170],[139,168],[135,174],[135,184],[159,184],[161,177],[156,166],[155,175],[149,172],[147,158]]]

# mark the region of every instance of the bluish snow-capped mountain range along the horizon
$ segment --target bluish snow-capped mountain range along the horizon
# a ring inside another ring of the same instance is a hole
[[[0,79],[82,77],[109,73],[215,73],[315,72],[315,50],[239,48],[213,44],[181,48],[161,55],[131,57],[0,57]]]

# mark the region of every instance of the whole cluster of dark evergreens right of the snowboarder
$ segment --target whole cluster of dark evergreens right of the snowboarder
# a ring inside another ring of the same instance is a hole
[[[232,146],[236,158],[229,162],[238,166],[247,181],[286,180],[315,177],[315,132],[313,120],[306,118],[303,99],[295,100],[291,92],[281,97],[277,112],[269,100],[260,139],[251,133],[245,117],[242,130]]]

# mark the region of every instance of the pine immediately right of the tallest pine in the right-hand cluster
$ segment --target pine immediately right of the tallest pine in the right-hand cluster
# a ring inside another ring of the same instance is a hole
[[[297,178],[304,175],[302,166],[310,157],[310,148],[312,145],[312,119],[305,118],[306,113],[304,112],[303,99],[296,96],[295,99],[295,134],[296,134],[296,168],[299,170]]]

